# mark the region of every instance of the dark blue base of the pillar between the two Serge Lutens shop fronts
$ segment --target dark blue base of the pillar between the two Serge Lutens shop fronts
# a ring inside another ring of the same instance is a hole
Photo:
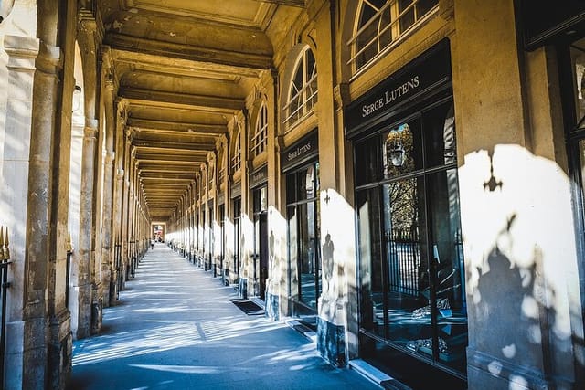
[[[330,364],[345,367],[347,364],[345,327],[317,317],[317,350]]]

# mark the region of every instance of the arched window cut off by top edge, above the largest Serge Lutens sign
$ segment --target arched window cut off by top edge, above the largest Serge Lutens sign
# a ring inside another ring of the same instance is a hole
[[[399,41],[431,15],[439,0],[361,0],[354,36],[348,42],[354,72],[362,69],[385,48]]]

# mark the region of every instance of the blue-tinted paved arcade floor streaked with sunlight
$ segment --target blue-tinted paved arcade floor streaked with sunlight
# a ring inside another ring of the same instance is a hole
[[[374,389],[326,364],[282,322],[248,316],[235,291],[163,244],[149,250],[100,335],[73,344],[70,389]]]

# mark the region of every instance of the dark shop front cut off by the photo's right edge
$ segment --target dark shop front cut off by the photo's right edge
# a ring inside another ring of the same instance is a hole
[[[545,50],[555,53],[558,61],[558,91],[569,160],[579,278],[579,299],[576,295],[569,296],[569,302],[581,308],[580,316],[574,316],[571,323],[574,383],[582,384],[585,381],[585,363],[581,357],[585,321],[582,311],[585,307],[585,4],[568,0],[552,10],[543,1],[522,1],[520,5],[525,48],[537,51],[542,47],[554,47],[554,51]],[[551,90],[556,87],[552,84]]]

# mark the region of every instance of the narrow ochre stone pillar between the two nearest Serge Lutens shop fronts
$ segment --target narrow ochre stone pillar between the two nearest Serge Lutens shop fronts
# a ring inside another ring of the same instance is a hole
[[[317,63],[319,104],[319,178],[321,208],[321,259],[323,291],[319,298],[317,348],[325,360],[336,366],[345,366],[347,318],[346,267],[356,262],[354,210],[346,196],[351,191],[343,187],[344,178],[353,175],[346,165],[343,122],[335,110],[335,81],[331,64],[335,62],[335,5],[324,7],[314,16],[318,50]],[[331,47],[331,49],[324,49]],[[347,169],[346,169],[347,167]],[[340,223],[347,221],[348,223]],[[352,282],[355,279],[352,279]]]

